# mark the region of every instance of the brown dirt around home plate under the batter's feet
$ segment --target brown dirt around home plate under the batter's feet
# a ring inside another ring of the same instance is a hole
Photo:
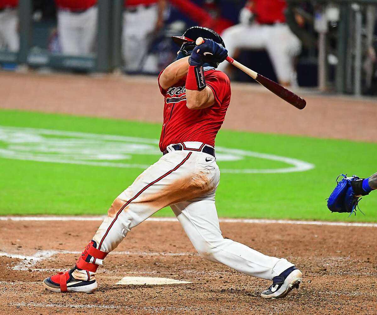
[[[134,228],[99,269],[94,294],[46,291],[43,278],[72,266],[99,224],[0,221],[0,314],[376,313],[375,227],[222,223],[224,237],[287,257],[302,269],[300,289],[284,299],[266,301],[259,295],[270,282],[199,257],[178,221]],[[192,283],[116,285],[124,276]]]

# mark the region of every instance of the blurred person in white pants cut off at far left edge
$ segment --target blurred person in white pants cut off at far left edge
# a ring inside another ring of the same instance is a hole
[[[20,47],[17,6],[18,0],[0,0],[0,48],[11,52]]]

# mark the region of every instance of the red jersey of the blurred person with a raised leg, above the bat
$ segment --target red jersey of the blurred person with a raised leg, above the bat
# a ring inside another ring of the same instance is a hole
[[[250,9],[259,24],[285,23],[285,0],[254,0]]]

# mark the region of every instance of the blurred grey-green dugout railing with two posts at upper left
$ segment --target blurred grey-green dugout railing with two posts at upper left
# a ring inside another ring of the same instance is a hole
[[[0,50],[0,62],[35,67],[109,72],[121,64],[122,0],[98,0],[97,52],[90,56],[69,56],[43,49],[32,49],[32,0],[18,5],[20,49]]]

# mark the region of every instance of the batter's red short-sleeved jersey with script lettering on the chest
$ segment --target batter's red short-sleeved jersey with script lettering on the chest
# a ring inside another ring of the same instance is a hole
[[[205,83],[213,91],[215,104],[201,110],[190,110],[186,106],[186,77],[167,91],[158,84],[165,97],[164,123],[159,142],[161,152],[168,145],[185,141],[215,146],[216,135],[230,103],[230,80],[225,73],[217,70],[206,70],[204,77]]]

